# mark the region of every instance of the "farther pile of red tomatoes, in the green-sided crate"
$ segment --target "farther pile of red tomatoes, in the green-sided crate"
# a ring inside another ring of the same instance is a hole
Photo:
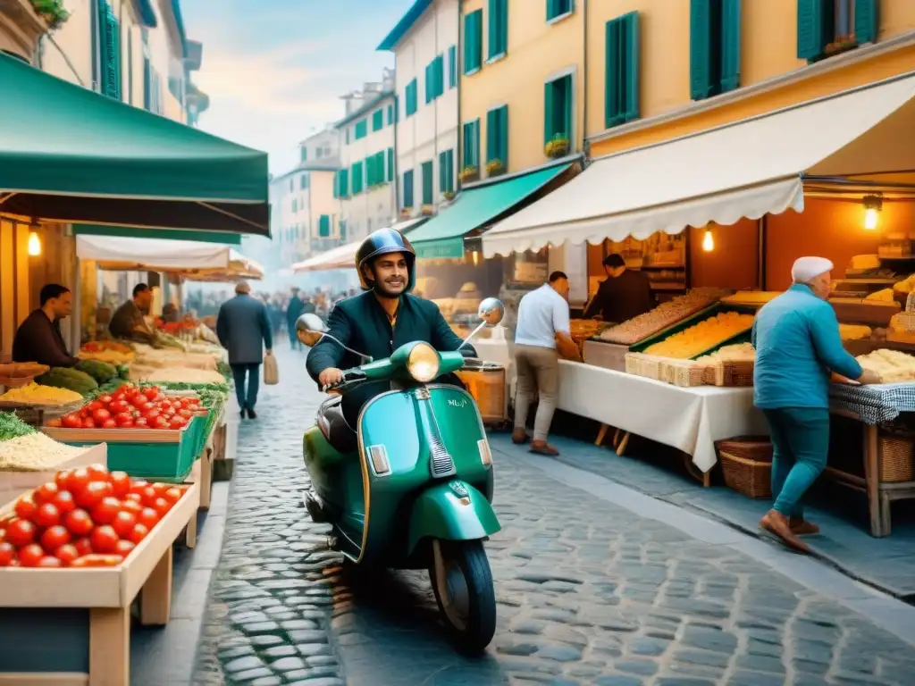
[[[195,397],[165,395],[156,386],[125,383],[110,395],[100,395],[81,410],[52,419],[48,426],[68,429],[165,429],[178,431],[200,412]]]

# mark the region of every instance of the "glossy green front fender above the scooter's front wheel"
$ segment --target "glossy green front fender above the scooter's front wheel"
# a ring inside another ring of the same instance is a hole
[[[425,538],[478,541],[501,530],[490,501],[465,481],[436,484],[425,490],[410,514],[407,555]]]

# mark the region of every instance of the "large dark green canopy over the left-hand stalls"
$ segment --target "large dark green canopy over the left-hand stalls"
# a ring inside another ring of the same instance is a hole
[[[0,211],[269,236],[267,155],[0,54]]]

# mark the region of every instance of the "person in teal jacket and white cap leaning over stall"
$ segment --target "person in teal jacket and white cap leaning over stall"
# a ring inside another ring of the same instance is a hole
[[[753,323],[754,403],[770,427],[775,498],[759,526],[800,552],[809,548],[797,537],[820,531],[804,520],[801,500],[829,453],[830,372],[880,382],[842,345],[838,320],[826,302],[832,270],[823,257],[798,259],[791,267],[791,288],[763,306]]]

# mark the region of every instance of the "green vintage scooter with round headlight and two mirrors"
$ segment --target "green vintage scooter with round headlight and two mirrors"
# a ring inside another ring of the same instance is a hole
[[[504,315],[495,298],[479,306],[482,327]],[[307,347],[330,338],[315,315],[296,335]],[[346,348],[350,350],[350,348]],[[366,381],[391,381],[391,391],[362,408],[355,431],[339,396],[324,402],[308,429],[304,455],[312,520],[333,526],[331,548],[350,563],[427,569],[438,609],[459,648],[481,651],[496,628],[496,599],[483,541],[500,531],[492,509],[492,454],[477,403],[467,391],[435,380],[479,366],[461,352],[408,343],[388,359],[347,370],[326,391],[345,394]]]

